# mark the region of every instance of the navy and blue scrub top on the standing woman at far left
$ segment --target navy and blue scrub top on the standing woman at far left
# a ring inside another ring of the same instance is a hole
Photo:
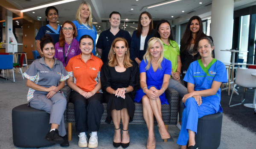
[[[36,35],[35,39],[40,40],[41,37],[44,37],[44,34],[50,34],[54,41],[54,45],[55,45],[55,43],[58,43],[58,41],[59,41],[60,31],[61,31],[61,26],[58,25],[57,30],[55,30],[52,28],[52,26],[47,24],[46,26],[42,26],[39,29],[38,34]]]

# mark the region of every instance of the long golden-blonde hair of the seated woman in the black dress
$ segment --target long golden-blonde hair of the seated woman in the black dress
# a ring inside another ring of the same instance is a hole
[[[129,67],[132,66],[132,64],[131,64],[132,60],[130,59],[130,52],[129,52],[128,42],[123,37],[117,37],[113,41],[111,49],[108,53],[108,60],[109,60],[108,66],[114,67],[114,66],[118,65],[117,60],[116,60],[116,54],[114,54],[114,46],[115,46],[116,42],[118,42],[118,41],[125,42],[125,47],[127,48],[127,51],[125,53],[125,58],[124,58],[124,67],[129,68]]]

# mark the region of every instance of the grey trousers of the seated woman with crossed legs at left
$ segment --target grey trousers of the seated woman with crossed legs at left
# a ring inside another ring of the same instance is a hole
[[[59,135],[66,135],[63,114],[67,106],[67,100],[61,93],[56,92],[56,94],[49,99],[47,99],[46,95],[35,96],[30,99],[29,106],[49,113],[51,115],[49,124],[58,124]]]

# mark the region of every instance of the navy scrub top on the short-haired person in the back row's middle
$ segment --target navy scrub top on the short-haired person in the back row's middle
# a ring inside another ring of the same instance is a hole
[[[119,28],[120,29],[120,28]],[[110,29],[103,31],[98,38],[96,47],[99,49],[102,49],[102,62],[106,63],[108,61],[108,53],[110,51],[111,45],[113,43],[113,40],[115,40],[117,37],[123,37],[128,42],[128,47],[131,46],[131,35],[129,32],[124,31],[122,29],[119,30],[119,32],[114,36]]]

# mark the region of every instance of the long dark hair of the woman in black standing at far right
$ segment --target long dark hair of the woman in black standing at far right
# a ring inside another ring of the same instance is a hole
[[[196,33],[196,37],[195,37],[195,45],[194,45],[194,49],[193,51],[197,51],[197,47],[198,47],[198,42],[200,40],[200,38],[202,37],[207,37],[206,34],[204,34],[204,29],[203,29],[203,22],[201,20],[200,17],[198,16],[193,16],[189,19],[188,25],[186,26],[186,30],[182,36],[181,42],[180,42],[180,52],[186,52],[188,50],[187,47],[190,46],[190,42],[192,40],[192,32],[190,30],[190,24],[192,22],[192,20],[198,20],[199,21],[199,26],[200,29],[199,31]]]

